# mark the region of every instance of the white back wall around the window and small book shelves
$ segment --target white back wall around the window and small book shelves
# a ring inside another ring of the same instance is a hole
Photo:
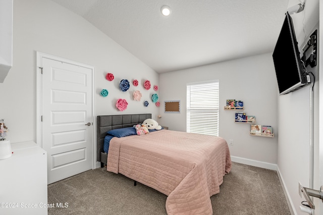
[[[235,160],[268,169],[277,164],[277,94],[278,85],[272,53],[212,64],[159,75],[161,125],[186,131],[186,84],[220,81],[220,133],[227,142]],[[256,117],[259,125],[273,126],[275,137],[251,136],[250,125],[235,123],[235,111],[225,111],[227,99],[242,100],[244,112]],[[180,114],[165,114],[165,100],[180,100]],[[207,125],[205,125],[207,126]],[[240,159],[242,158],[242,159]]]

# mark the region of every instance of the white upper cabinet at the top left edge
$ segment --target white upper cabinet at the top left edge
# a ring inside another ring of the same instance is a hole
[[[13,0],[0,1],[0,83],[12,67]]]

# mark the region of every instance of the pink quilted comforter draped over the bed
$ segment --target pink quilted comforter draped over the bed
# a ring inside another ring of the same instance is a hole
[[[231,158],[221,137],[160,130],[112,138],[106,170],[168,195],[169,215],[204,215],[212,214],[210,196],[220,192]]]

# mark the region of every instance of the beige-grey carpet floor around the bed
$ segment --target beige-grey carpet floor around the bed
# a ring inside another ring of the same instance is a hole
[[[167,196],[105,168],[48,185],[48,214],[165,215]],[[57,207],[57,203],[68,207]],[[67,203],[67,204],[65,204]],[[291,214],[276,171],[233,163],[220,193],[211,196],[213,214]]]

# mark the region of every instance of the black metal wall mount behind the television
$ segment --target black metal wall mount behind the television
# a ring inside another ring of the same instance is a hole
[[[306,48],[305,48],[306,47]],[[305,49],[304,49],[305,48]],[[304,66],[307,67],[310,65],[312,68],[316,66],[317,63],[317,30],[315,30],[309,37],[306,45],[303,47],[303,57],[302,61],[304,62]],[[308,55],[306,52],[310,51]]]

